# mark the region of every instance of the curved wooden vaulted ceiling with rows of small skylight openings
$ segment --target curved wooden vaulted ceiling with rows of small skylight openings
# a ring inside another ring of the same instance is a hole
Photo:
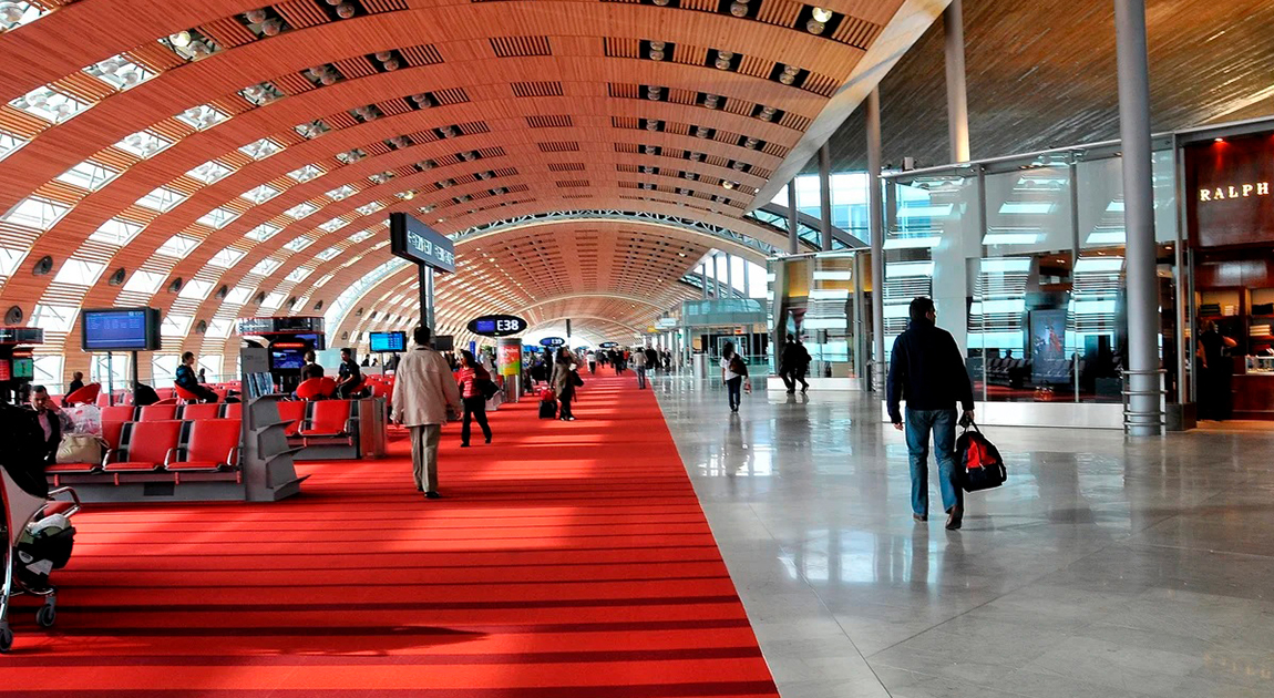
[[[241,315],[338,304],[329,331],[350,343],[410,322],[410,301],[389,302],[414,297],[390,261],[392,210],[445,233],[562,210],[680,217],[759,259],[782,232],[744,217],[755,192],[874,42],[913,39],[944,4],[819,0],[833,14],[815,36],[813,5],[791,0],[19,3],[0,33],[0,65],[23,66],[0,74],[0,294],[28,317],[155,306],[172,352],[224,354]],[[912,22],[889,34],[896,15]],[[731,248],[692,228],[461,237],[440,331],[548,298],[531,308],[544,321],[641,325],[618,297],[675,303],[684,266]],[[368,299],[386,307],[355,316]],[[46,352],[78,344],[65,330]]]

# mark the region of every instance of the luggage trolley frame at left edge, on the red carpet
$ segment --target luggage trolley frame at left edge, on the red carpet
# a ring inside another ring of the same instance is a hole
[[[70,495],[70,502],[55,499],[59,494]],[[69,487],[51,489],[47,498],[34,497],[24,492],[4,469],[0,469],[0,503],[4,504],[4,518],[0,520],[0,531],[4,532],[4,588],[0,590],[0,652],[8,652],[13,647],[13,630],[9,629],[9,599],[29,594],[42,596],[45,604],[36,611],[36,623],[42,628],[51,628],[57,618],[57,588],[51,583],[42,586],[32,585],[18,574],[15,566],[19,563],[18,543],[27,526],[42,520],[46,515],[60,513],[70,518],[80,509],[79,497]],[[66,506],[60,511],[50,511],[51,504]],[[69,529],[74,531],[74,529]],[[55,566],[60,567],[60,566]],[[47,568],[45,569],[47,577]]]

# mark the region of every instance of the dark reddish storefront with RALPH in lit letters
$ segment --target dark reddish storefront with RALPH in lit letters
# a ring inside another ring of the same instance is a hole
[[[1182,140],[1199,418],[1274,423],[1274,125]]]

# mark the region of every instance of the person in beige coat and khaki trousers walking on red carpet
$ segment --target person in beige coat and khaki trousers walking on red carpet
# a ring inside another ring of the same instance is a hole
[[[415,489],[437,499],[438,442],[447,418],[460,411],[460,388],[447,359],[429,348],[429,329],[417,327],[414,339],[394,377],[394,422],[412,432]]]

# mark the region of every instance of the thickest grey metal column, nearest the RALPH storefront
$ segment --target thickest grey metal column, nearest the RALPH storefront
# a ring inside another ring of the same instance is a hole
[[[1145,0],[1115,0],[1119,121],[1124,141],[1124,229],[1127,232],[1127,358],[1125,423],[1133,436],[1158,436],[1161,406],[1158,293],[1154,269],[1154,189]]]

